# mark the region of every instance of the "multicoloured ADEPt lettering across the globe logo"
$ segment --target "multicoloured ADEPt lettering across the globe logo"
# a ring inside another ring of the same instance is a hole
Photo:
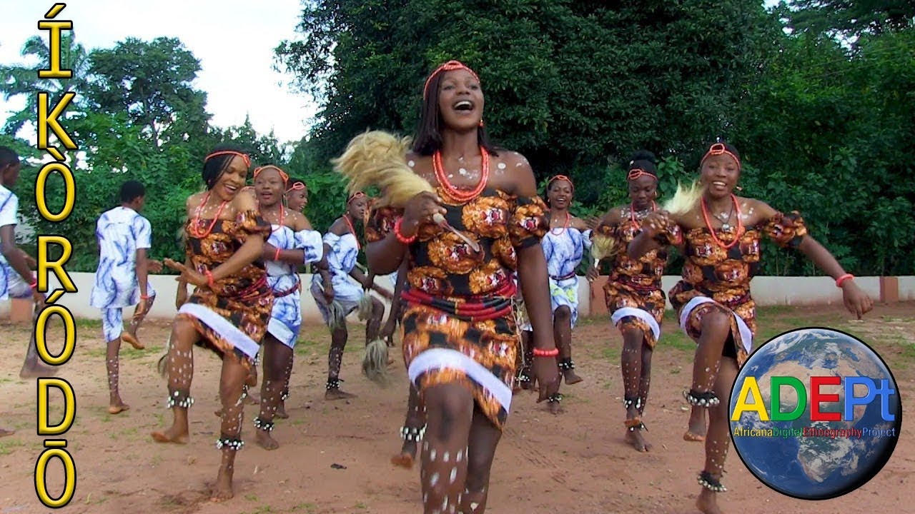
[[[879,385],[877,385],[879,383]],[[740,416],[744,412],[756,412],[759,415],[759,421],[773,422],[792,422],[802,416],[807,409],[810,409],[811,422],[851,422],[855,419],[855,407],[867,406],[877,400],[880,402],[880,416],[885,422],[895,422],[896,415],[889,412],[889,404],[892,401],[899,402],[896,396],[896,390],[889,385],[889,380],[874,380],[869,377],[853,376],[821,376],[810,377],[810,403],[807,402],[807,388],[803,382],[796,377],[771,377],[770,378],[770,411],[766,412],[766,407],[762,402],[762,394],[759,391],[759,382],[755,377],[747,377],[737,395],[737,404],[731,413],[731,421],[740,421]],[[827,394],[821,390],[823,386],[842,386],[844,394],[838,393]],[[855,395],[855,386],[863,386],[867,394],[864,396]],[[781,388],[789,387],[797,396],[796,401],[791,401],[793,411],[785,412],[782,410]],[[752,398],[754,402],[748,402]],[[841,401],[840,398],[844,398]],[[822,410],[823,403],[835,403],[841,406],[840,411]]]

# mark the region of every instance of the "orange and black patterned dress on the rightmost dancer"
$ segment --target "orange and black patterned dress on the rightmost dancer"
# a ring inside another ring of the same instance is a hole
[[[725,245],[736,237],[735,229],[718,229],[715,233]],[[807,235],[807,228],[797,211],[777,212],[769,220],[748,227],[740,241],[728,250],[716,244],[705,227],[684,231],[683,277],[670,291],[680,327],[694,339],[701,334],[703,316],[712,309],[733,315],[723,355],[737,359],[738,367],[747,361],[756,334],[756,303],[750,296],[749,283],[759,272],[759,241],[763,235],[782,248],[796,248]]]

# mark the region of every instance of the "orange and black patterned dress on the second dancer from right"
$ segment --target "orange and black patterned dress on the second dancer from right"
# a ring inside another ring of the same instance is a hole
[[[607,284],[604,284],[604,298],[610,321],[619,327],[619,331],[626,333],[639,329],[645,335],[645,344],[654,348],[661,337],[661,322],[667,304],[661,288],[667,251],[671,245],[680,243],[681,234],[679,228],[672,225],[655,238],[661,248],[645,253],[639,259],[631,259],[626,251],[641,232],[639,221],[638,217],[632,220],[628,216],[618,225],[597,227],[597,233],[615,241],[618,249]]]

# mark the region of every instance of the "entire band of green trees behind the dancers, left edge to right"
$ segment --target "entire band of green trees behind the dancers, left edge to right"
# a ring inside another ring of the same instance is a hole
[[[232,141],[256,165],[282,166],[309,187],[307,215],[320,230],[344,208],[328,159],[355,134],[413,134],[427,74],[460,59],[482,80],[493,139],[522,152],[539,182],[578,184],[579,216],[627,198],[623,166],[640,149],[659,156],[662,197],[695,177],[707,145],[737,145],[741,194],[800,210],[811,233],[856,274],[915,274],[915,3],[791,0],[308,0],[297,36],[279,41],[277,69],[320,105],[294,142],[258,134],[249,121],[218,127],[195,88],[199,60],[173,37],[127,38],[87,52],[66,39],[71,80],[38,81],[36,66],[0,66],[10,98],[76,91],[67,128],[80,143],[77,208],[38,233],[68,233],[74,271],[93,271],[94,222],[120,184],[147,187],[145,216],[156,257],[180,258],[183,203],[202,187],[204,155]],[[47,53],[32,38],[24,57]],[[16,134],[34,105],[7,120],[0,144],[36,156]],[[34,212],[35,166],[17,186]],[[48,198],[62,187],[52,179]],[[53,200],[50,202],[53,204]],[[51,206],[53,207],[53,205]],[[767,244],[763,273],[814,274]],[[673,262],[667,273],[679,273]]]

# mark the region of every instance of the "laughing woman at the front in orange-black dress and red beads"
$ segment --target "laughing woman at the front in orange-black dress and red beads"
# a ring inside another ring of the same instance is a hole
[[[377,273],[393,272],[408,251],[404,363],[426,409],[420,456],[426,513],[486,509],[519,347],[514,251],[541,356],[534,364],[538,402],[559,386],[539,244],[548,230],[546,208],[527,160],[488,143],[482,112],[476,73],[458,61],[432,72],[406,159],[440,198],[423,193],[404,209],[376,209],[367,230],[366,256]],[[433,221],[436,214],[473,244]]]

